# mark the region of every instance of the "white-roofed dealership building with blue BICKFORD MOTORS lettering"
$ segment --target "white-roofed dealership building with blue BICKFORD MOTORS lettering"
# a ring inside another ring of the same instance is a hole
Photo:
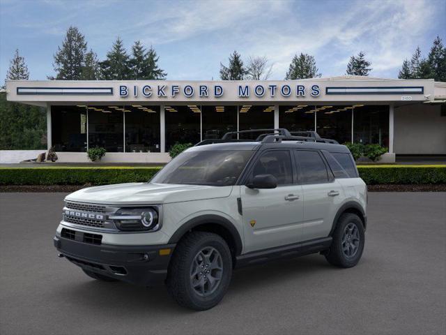
[[[6,92],[8,101],[47,109],[48,148],[61,162],[87,161],[87,149],[104,147],[105,162],[165,163],[176,142],[256,128],[381,144],[384,162],[446,155],[446,83],[434,80],[18,80]]]

